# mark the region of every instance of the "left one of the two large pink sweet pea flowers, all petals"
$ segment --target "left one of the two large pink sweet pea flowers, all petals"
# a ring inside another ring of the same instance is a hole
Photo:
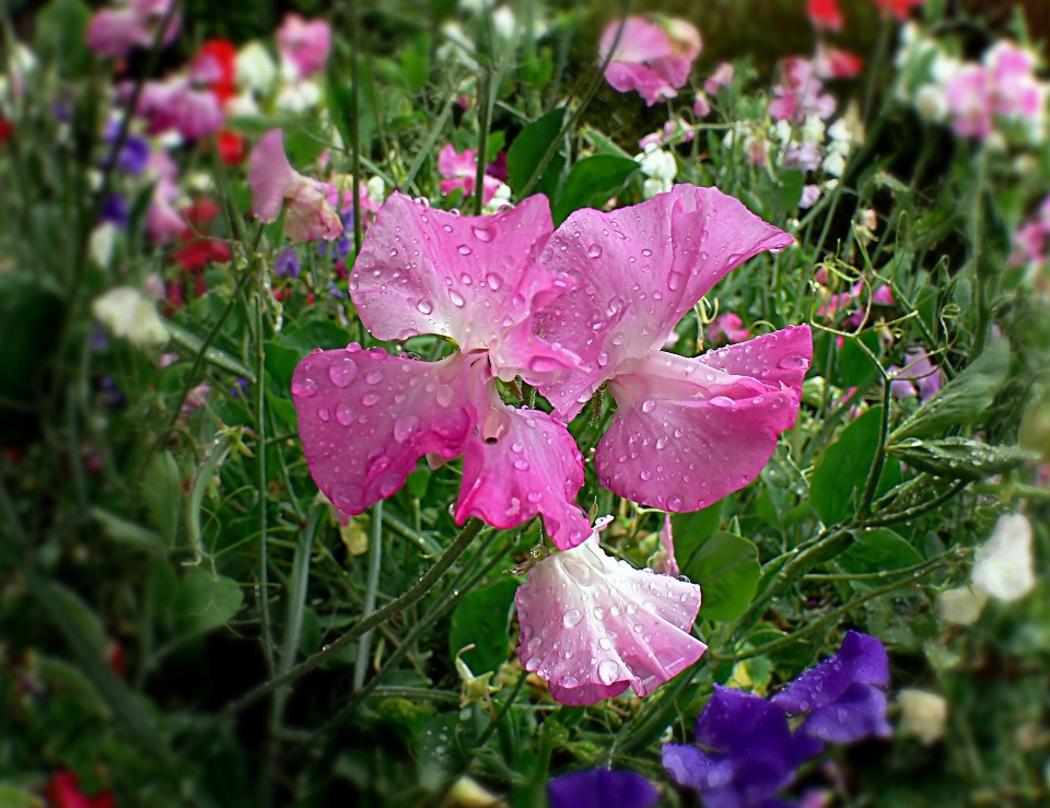
[[[292,394],[303,449],[338,508],[360,514],[393,495],[421,457],[463,455],[457,524],[476,516],[510,528],[541,514],[559,547],[587,537],[572,502],[583,456],[546,413],[502,402],[491,361],[516,328],[530,328],[534,308],[572,285],[536,260],[551,230],[542,196],[492,216],[386,200],[349,280],[358,314],[377,339],[438,333],[458,351],[422,362],[352,344],[300,363]]]

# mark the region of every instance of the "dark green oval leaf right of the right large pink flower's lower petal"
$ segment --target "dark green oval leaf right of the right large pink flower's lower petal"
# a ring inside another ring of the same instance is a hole
[[[883,408],[873,407],[849,424],[813,472],[809,500],[825,525],[853,513],[854,492],[863,489],[875,461],[882,418]]]

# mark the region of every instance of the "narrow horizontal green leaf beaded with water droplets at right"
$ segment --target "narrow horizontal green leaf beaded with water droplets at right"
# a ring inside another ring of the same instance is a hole
[[[1039,459],[1038,452],[1019,446],[989,446],[967,437],[943,437],[940,441],[911,437],[889,445],[886,450],[920,471],[971,482],[987,480],[992,475]]]

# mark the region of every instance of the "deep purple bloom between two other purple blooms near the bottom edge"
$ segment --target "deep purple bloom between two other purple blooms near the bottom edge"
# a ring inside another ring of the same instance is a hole
[[[664,769],[705,808],[772,808],[795,769],[821,745],[792,735],[784,711],[760,695],[714,686],[697,721],[697,743],[665,743]]]

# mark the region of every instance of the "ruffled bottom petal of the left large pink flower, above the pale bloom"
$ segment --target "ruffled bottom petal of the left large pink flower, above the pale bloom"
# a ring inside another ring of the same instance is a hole
[[[545,412],[493,401],[467,438],[456,523],[477,516],[510,528],[542,514],[553,542],[569,549],[591,532],[573,497],[583,485],[583,455],[569,431]]]

